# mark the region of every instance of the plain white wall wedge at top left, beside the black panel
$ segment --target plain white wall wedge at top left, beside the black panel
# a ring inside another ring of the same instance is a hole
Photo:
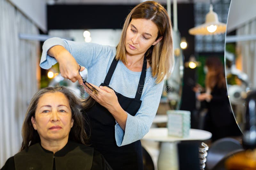
[[[45,0],[9,0],[42,31],[47,30]]]

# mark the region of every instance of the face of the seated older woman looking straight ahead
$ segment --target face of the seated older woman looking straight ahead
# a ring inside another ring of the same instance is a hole
[[[68,139],[73,126],[67,97],[61,92],[46,93],[38,100],[35,117],[31,117],[41,142]]]

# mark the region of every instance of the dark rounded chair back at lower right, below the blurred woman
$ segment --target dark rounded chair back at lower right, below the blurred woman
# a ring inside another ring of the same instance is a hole
[[[242,145],[233,138],[221,138],[212,143],[206,157],[205,169],[213,170],[228,155],[243,150]]]

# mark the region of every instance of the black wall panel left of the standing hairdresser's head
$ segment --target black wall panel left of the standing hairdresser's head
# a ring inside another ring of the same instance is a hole
[[[127,5],[47,5],[47,25],[51,29],[121,29],[134,6]]]

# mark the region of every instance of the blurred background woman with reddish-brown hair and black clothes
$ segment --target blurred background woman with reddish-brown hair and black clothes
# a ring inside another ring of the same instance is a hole
[[[206,103],[208,109],[204,130],[212,133],[212,141],[241,135],[228,100],[224,67],[220,59],[207,58],[204,71],[205,92],[196,96],[199,101]]]

